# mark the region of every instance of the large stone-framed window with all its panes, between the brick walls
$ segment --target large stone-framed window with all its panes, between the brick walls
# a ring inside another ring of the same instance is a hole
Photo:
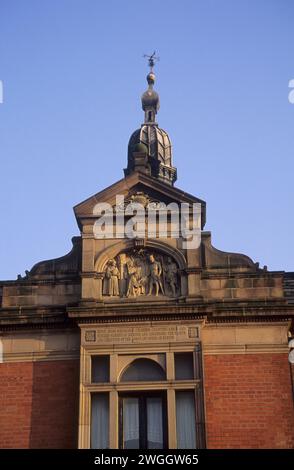
[[[166,347],[85,350],[80,446],[205,448],[201,345]]]

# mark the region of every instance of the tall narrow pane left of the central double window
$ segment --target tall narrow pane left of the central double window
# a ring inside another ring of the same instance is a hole
[[[91,449],[109,448],[109,396],[108,393],[91,395]]]

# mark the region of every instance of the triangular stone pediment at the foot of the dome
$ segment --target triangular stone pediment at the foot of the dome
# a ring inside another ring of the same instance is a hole
[[[119,180],[101,192],[94,194],[85,201],[74,207],[74,213],[79,228],[82,229],[83,220],[95,218],[94,208],[98,203],[108,203],[111,206],[116,204],[116,196],[122,195],[125,201],[130,201],[132,197],[142,194],[147,197],[150,203],[169,204],[171,202],[181,203],[198,203],[201,204],[201,221],[202,228],[206,222],[206,202],[192,196],[181,189],[168,186],[161,183],[157,179],[144,175],[142,173],[132,173],[130,176]],[[140,201],[141,202],[141,201]]]

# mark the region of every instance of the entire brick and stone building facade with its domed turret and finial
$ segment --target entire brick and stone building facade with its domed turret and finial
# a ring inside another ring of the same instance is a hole
[[[205,202],[174,186],[154,80],[124,178],[74,208],[71,252],[0,282],[1,448],[294,447],[294,275],[213,247]]]

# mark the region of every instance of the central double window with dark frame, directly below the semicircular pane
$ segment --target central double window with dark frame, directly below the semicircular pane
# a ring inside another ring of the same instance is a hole
[[[164,393],[142,392],[120,397],[120,447],[166,448],[166,398]]]

